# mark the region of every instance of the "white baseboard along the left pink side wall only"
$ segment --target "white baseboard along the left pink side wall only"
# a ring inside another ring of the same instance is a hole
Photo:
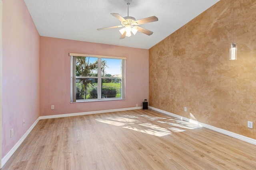
[[[4,164],[9,160],[9,158],[12,156],[12,154],[14,154],[14,152],[18,149],[18,147],[20,146],[20,144],[26,139],[26,137],[28,136],[28,134],[32,131],[32,129],[36,126],[36,124],[39,121],[39,117],[38,119],[36,119],[36,121],[32,124],[32,126],[26,131],[26,133],[20,138],[20,140],[14,145],[14,147],[12,147],[12,149],[4,156],[4,158],[2,158],[2,167],[4,166]],[[1,167],[1,168],[2,168]]]

